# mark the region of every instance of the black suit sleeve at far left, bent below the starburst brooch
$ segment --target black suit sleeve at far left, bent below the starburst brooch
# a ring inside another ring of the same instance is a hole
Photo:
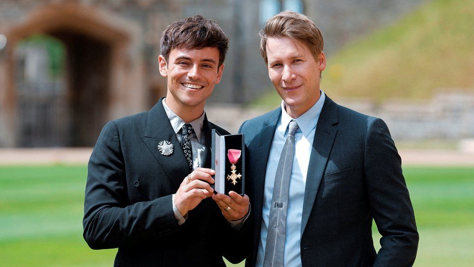
[[[88,164],[84,239],[92,249],[130,245],[178,231],[170,196],[130,204],[119,130],[104,126]]]

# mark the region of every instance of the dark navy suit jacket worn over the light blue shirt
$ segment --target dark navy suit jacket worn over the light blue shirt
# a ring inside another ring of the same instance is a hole
[[[254,266],[267,160],[281,108],[244,122]],[[376,253],[372,218],[382,234]],[[385,123],[326,96],[311,151],[301,223],[303,266],[410,266],[418,232],[401,160]]]

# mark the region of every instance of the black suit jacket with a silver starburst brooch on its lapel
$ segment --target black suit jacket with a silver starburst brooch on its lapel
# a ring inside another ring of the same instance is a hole
[[[204,120],[205,145],[211,129]],[[174,152],[157,149],[170,141]],[[209,150],[210,151],[210,150]],[[206,167],[210,167],[210,152]],[[92,249],[119,248],[116,266],[225,266],[238,231],[217,204],[204,199],[178,226],[171,195],[188,174],[188,163],[161,99],[148,112],[107,123],[89,160],[85,188],[84,238]]]

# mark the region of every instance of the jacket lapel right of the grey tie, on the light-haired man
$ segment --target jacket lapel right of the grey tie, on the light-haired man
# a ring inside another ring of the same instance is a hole
[[[321,115],[314,134],[311,156],[309,158],[308,173],[306,175],[305,199],[303,202],[303,216],[301,219],[301,234],[305,231],[306,224],[313,209],[313,204],[319,190],[322,175],[336,138],[338,123],[338,107],[326,96]]]

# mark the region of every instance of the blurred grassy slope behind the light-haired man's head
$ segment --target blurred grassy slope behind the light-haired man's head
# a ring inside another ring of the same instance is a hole
[[[429,98],[474,89],[474,0],[433,0],[397,23],[327,58],[322,89],[331,97]],[[277,106],[271,91],[257,106]]]

